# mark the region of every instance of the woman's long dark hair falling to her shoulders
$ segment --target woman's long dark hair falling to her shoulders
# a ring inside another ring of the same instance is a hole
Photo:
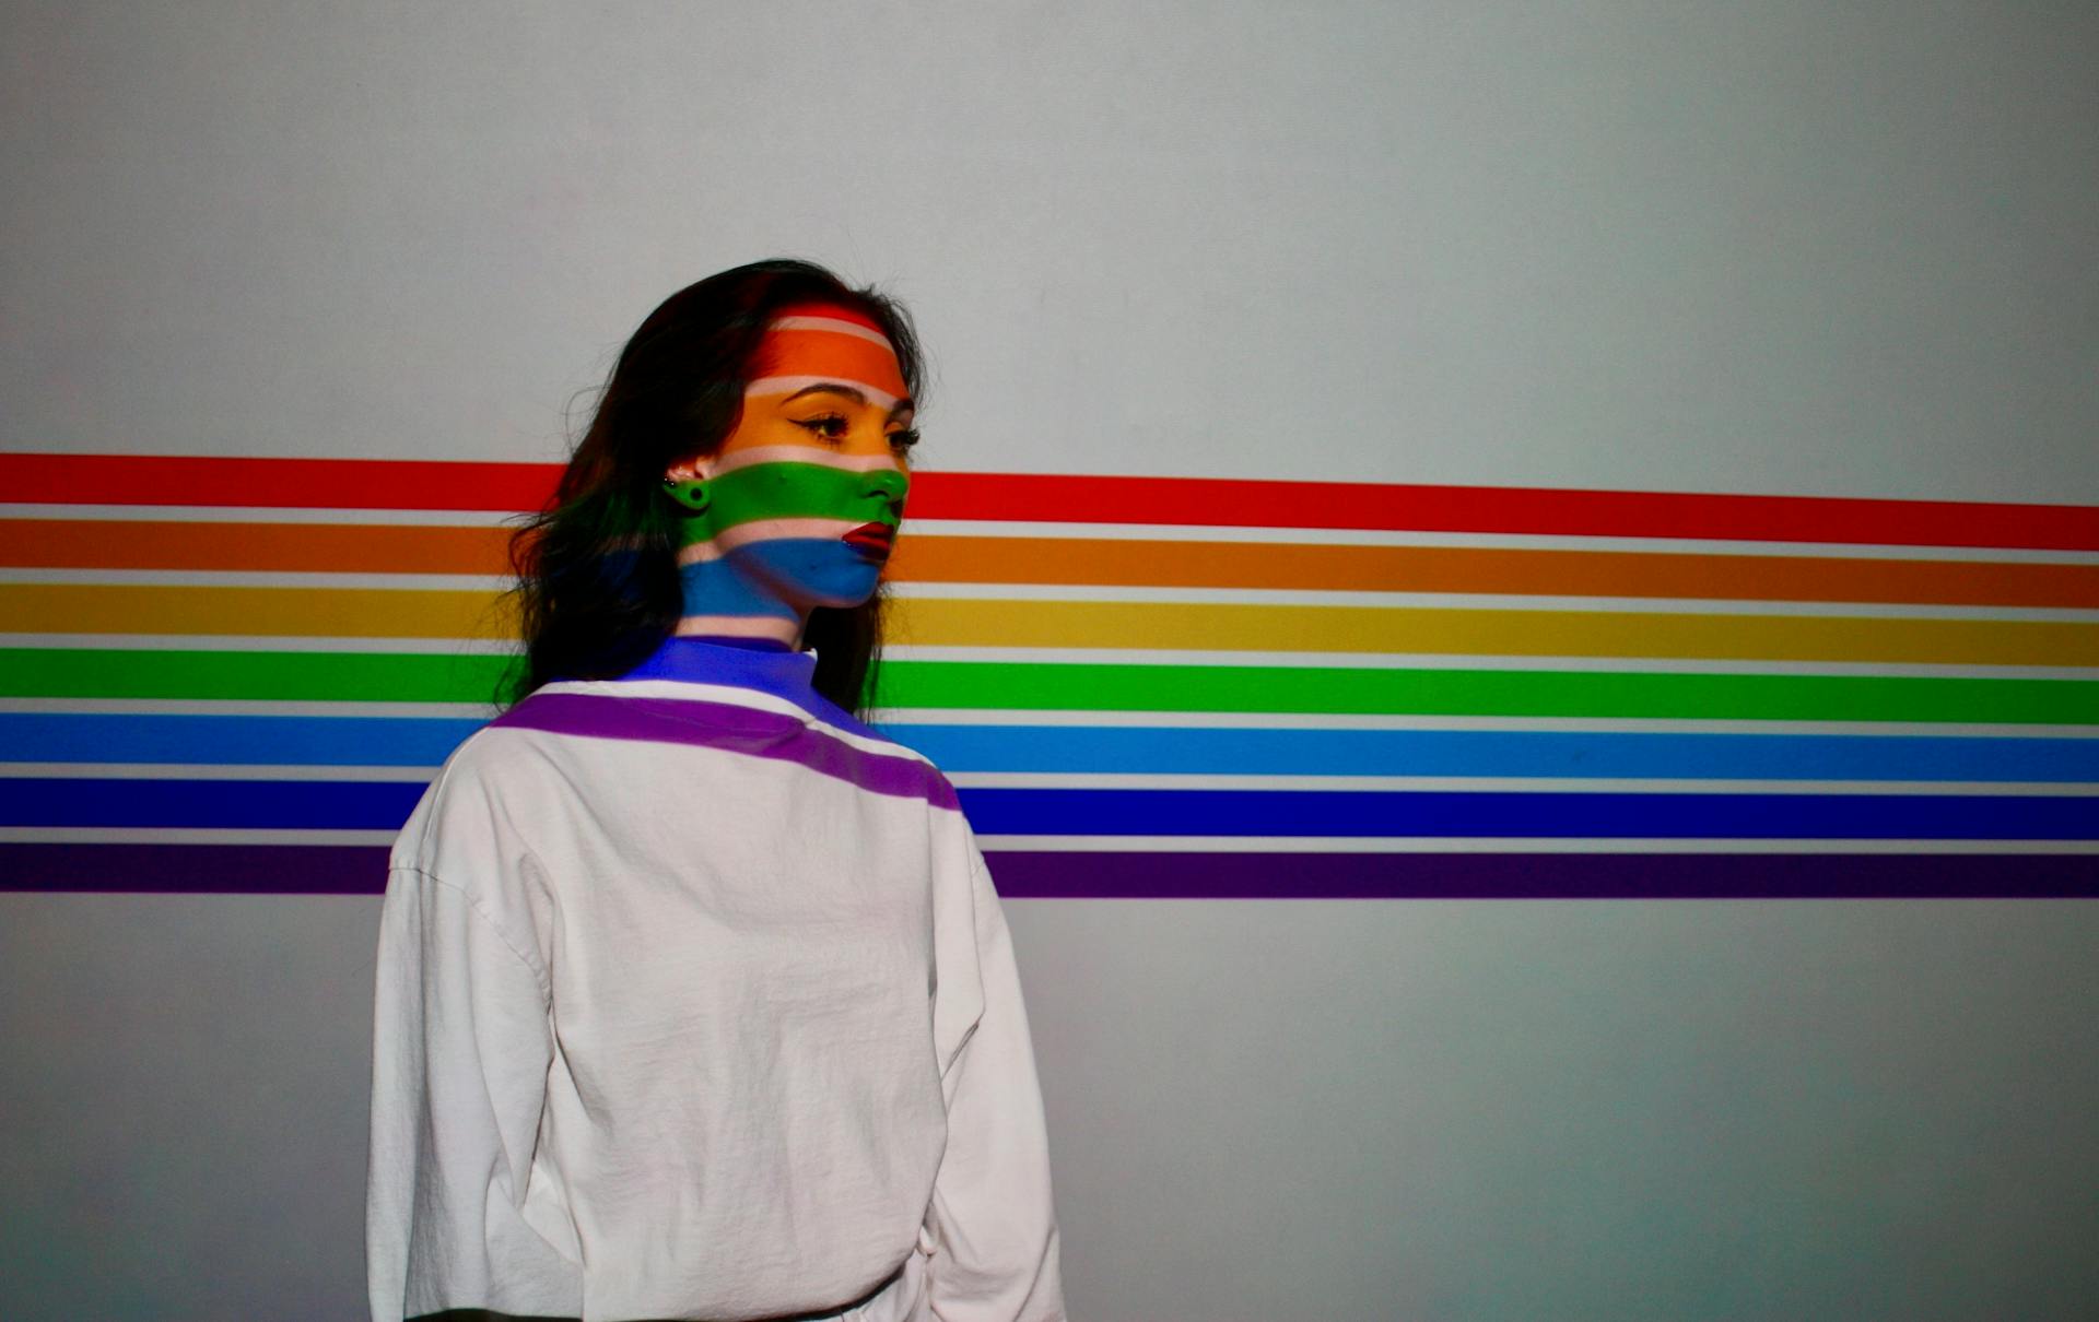
[[[510,535],[525,655],[500,703],[548,680],[623,676],[678,625],[680,506],[663,495],[663,470],[728,441],[766,323],[796,302],[873,317],[919,399],[924,359],[903,304],[814,262],[751,262],[665,298],[619,353],[554,497]],[[802,634],[817,648],[817,692],[856,716],[873,692],[886,594],[884,581],[861,606],[819,606]]]

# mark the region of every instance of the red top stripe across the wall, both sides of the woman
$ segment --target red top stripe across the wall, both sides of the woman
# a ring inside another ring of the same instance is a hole
[[[0,453],[0,499],[38,504],[537,510],[558,464]],[[2099,508],[1547,487],[921,472],[915,518],[1717,537],[2099,550]]]

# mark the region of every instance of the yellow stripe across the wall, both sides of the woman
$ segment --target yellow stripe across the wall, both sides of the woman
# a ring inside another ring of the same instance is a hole
[[[487,592],[0,585],[0,632],[10,634],[514,638],[514,630],[510,606]],[[900,598],[890,604],[888,640],[917,646],[2099,665],[2099,625],[2093,623],[1646,611]]]

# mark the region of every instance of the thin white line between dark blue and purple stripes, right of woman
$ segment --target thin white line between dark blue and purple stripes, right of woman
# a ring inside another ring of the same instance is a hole
[[[1524,835],[978,835],[1056,854],[2099,854],[2093,839],[1589,839]]]

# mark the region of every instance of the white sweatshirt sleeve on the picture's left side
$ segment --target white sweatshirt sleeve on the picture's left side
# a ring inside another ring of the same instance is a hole
[[[550,990],[468,892],[395,867],[380,919],[365,1253],[372,1316],[581,1312],[581,1267],[527,1221]]]

